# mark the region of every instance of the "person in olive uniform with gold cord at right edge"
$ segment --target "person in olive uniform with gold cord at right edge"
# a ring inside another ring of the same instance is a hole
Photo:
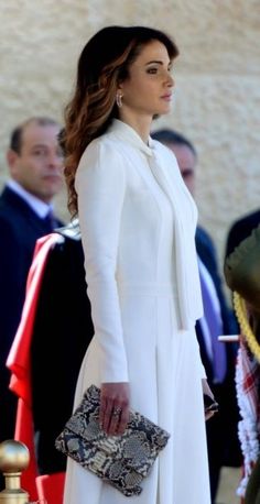
[[[224,274],[227,285],[234,293],[234,305],[240,327],[236,388],[241,416],[238,430],[243,467],[237,494],[242,497],[243,504],[259,504],[260,226],[241,240],[226,258]]]

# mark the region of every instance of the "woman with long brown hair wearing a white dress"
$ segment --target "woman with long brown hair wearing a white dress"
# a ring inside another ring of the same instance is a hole
[[[66,180],[78,213],[95,326],[78,377],[101,388],[100,425],[121,434],[129,407],[171,434],[139,504],[209,504],[202,379],[196,208],[174,155],[149,136],[171,108],[177,47],[164,33],[108,26],[85,46],[66,108]],[[122,504],[68,460],[66,504]]]

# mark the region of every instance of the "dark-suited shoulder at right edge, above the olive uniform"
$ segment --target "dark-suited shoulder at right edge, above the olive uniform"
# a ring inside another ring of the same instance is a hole
[[[260,224],[260,210],[248,213],[236,220],[229,229],[226,245],[226,258],[231,254],[239,243],[248,238],[252,230]]]

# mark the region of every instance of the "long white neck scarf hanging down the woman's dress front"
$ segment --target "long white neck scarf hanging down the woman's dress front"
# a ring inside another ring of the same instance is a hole
[[[126,150],[126,156],[151,189],[156,199],[154,185],[149,168],[159,186],[171,202],[174,213],[174,253],[176,258],[177,294],[180,299],[181,329],[191,329],[195,320],[203,315],[202,293],[198,276],[197,254],[195,250],[195,229],[197,208],[189,195],[172,152],[152,139],[147,145],[138,133],[128,124],[116,120],[111,130],[118,139],[133,146],[132,154]],[[140,163],[140,154],[147,163]],[[175,260],[174,260],[175,261]]]

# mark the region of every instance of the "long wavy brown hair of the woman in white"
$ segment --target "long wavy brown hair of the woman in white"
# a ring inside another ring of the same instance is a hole
[[[105,133],[111,120],[118,117],[118,84],[128,78],[129,66],[142,47],[154,40],[166,47],[171,61],[177,56],[177,46],[165,33],[144,26],[104,28],[82,51],[75,91],[65,107],[65,128],[61,135],[68,209],[73,217],[78,210],[74,183],[79,160],[87,145]]]

